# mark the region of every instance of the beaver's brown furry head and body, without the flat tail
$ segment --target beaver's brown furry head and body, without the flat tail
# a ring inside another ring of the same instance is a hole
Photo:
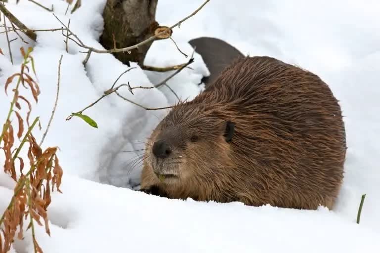
[[[152,131],[141,191],[332,210],[346,154],[338,102],[307,70],[269,56],[239,57]]]

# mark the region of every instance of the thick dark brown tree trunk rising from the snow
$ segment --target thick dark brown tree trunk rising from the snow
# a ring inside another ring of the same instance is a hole
[[[104,30],[100,43],[106,49],[123,48],[142,42],[154,35],[158,0],[107,0],[103,11]],[[114,39],[113,39],[114,36]],[[114,53],[124,64],[129,61],[142,65],[152,42],[145,43],[131,53]]]

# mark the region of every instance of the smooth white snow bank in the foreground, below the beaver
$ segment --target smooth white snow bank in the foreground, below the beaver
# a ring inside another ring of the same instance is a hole
[[[38,233],[48,253],[357,253],[380,249],[378,234],[325,209],[169,202],[129,189],[65,178],[70,184],[62,185],[64,194],[54,195],[49,208],[52,237],[43,230]],[[28,236],[18,246],[32,252]]]

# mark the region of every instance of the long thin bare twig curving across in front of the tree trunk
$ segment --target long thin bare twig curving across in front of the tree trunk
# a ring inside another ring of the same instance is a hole
[[[169,28],[167,28],[167,29],[161,31],[160,33],[157,33],[156,35],[149,37],[148,39],[146,39],[146,40],[144,40],[144,41],[142,41],[142,42],[140,42],[140,43],[137,43],[137,44],[135,44],[135,45],[128,46],[128,47],[123,47],[123,48],[113,48],[113,49],[108,49],[108,50],[99,50],[99,49],[96,49],[96,48],[94,48],[94,47],[91,47],[91,46],[88,46],[88,45],[84,44],[84,43],[78,38],[78,36],[77,36],[76,34],[74,34],[72,31],[70,31],[70,30],[68,29],[68,27],[67,27],[65,24],[63,24],[62,21],[59,20],[59,18],[58,18],[54,13],[53,13],[53,15],[54,15],[54,17],[55,17],[55,18],[56,18],[56,19],[57,19],[57,20],[58,20],[58,21],[59,21],[59,22],[60,22],[60,23],[61,23],[61,24],[67,29],[67,30],[69,30],[69,32],[70,32],[70,36],[72,35],[72,36],[75,37],[75,39],[78,40],[78,43],[77,43],[78,45],[80,45],[80,46],[83,47],[83,48],[88,49],[87,56],[86,56],[85,60],[83,61],[83,64],[86,65],[87,62],[88,62],[88,60],[90,59],[90,55],[91,55],[92,52],[95,52],[95,53],[130,52],[130,50],[132,50],[132,49],[139,48],[139,46],[141,46],[141,45],[143,45],[143,44],[146,44],[146,43],[148,43],[148,42],[153,41],[153,40],[156,39],[157,37],[159,37],[159,36],[161,36],[161,35],[167,33],[168,30],[171,30],[171,29],[173,29],[173,28],[175,28],[175,27],[177,27],[177,26],[180,26],[181,23],[183,23],[184,21],[186,21],[186,20],[189,19],[190,17],[194,16],[194,15],[195,15],[195,14],[196,14],[201,8],[203,8],[203,6],[204,6],[207,2],[209,2],[209,1],[210,1],[210,0],[206,0],[205,2],[203,2],[203,4],[200,5],[200,6],[199,6],[194,12],[192,12],[189,16],[183,18],[181,21],[179,21],[179,22],[177,22],[176,24],[172,25],[171,27],[169,27]]]

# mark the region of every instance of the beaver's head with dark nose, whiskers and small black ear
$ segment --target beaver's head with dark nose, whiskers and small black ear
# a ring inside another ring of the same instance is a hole
[[[147,162],[166,184],[186,181],[190,175],[201,176],[204,168],[229,163],[229,142],[234,131],[234,123],[222,117],[214,106],[179,104],[153,130]]]

